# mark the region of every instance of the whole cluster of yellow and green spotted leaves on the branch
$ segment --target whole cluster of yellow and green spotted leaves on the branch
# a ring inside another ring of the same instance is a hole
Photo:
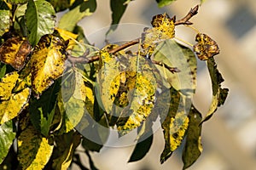
[[[157,2],[162,7],[172,1]],[[128,3],[111,0],[112,24]],[[130,161],[138,161],[152,144],[157,117],[166,141],[160,162],[184,142],[184,168],[191,166],[201,155],[202,122],[228,94],[213,59],[217,43],[198,33],[194,53],[174,40],[175,27],[191,24],[197,8],[183,20],[156,15],[142,38],[97,49],[77,25],[93,14],[96,0],[1,1],[0,167],[67,169],[75,162],[82,168],[76,148],[82,144],[90,158],[89,151],[100,151],[108,139],[109,127],[119,137],[137,129]],[[55,13],[66,9],[56,27]],[[125,51],[135,44],[137,52]],[[196,56],[206,60],[212,79],[212,105],[204,119],[191,101]],[[91,160],[90,168],[96,169]]]

